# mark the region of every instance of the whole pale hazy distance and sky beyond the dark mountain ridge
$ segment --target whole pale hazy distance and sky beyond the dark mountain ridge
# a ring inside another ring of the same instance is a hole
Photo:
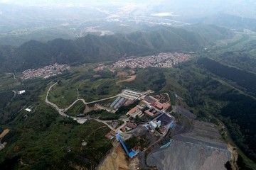
[[[255,1],[0,1],[0,45],[207,23],[255,29]],[[231,20],[230,20],[231,18]],[[239,19],[239,23],[233,21]]]

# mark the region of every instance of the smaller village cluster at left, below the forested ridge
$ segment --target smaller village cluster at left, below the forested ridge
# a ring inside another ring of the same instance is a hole
[[[40,69],[27,69],[22,72],[23,77],[21,79],[35,79],[35,78],[48,78],[60,74],[61,72],[70,69],[67,64],[53,64]]]

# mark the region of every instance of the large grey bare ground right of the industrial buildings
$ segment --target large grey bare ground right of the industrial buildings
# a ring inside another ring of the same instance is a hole
[[[174,136],[169,147],[151,152],[146,163],[159,170],[225,170],[230,152],[216,125],[195,120],[193,127]]]

